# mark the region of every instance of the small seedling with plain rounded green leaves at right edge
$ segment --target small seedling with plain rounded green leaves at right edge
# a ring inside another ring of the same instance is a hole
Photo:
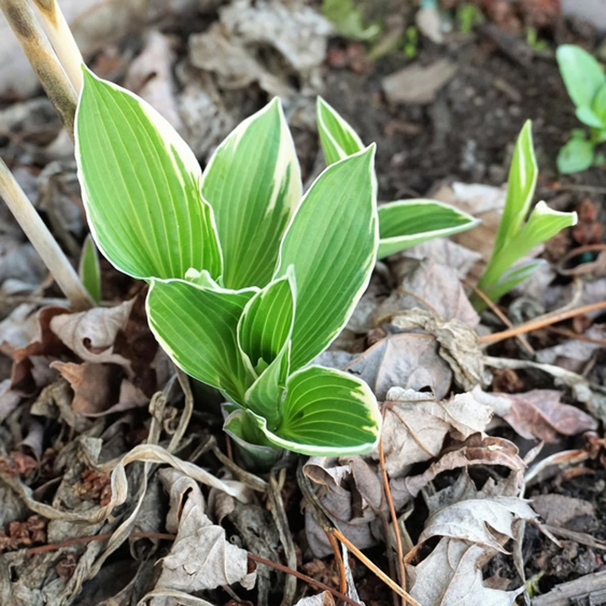
[[[589,136],[575,128],[558,154],[560,172],[576,173],[602,159],[596,145],[606,141],[606,74],[593,56],[573,44],[559,46],[556,56],[576,117],[590,128]]]

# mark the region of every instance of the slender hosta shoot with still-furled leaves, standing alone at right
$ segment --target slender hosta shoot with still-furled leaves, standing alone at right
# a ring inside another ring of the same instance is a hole
[[[478,288],[496,301],[511,288],[528,278],[541,260],[522,262],[534,247],[553,238],[565,227],[576,224],[576,213],[551,210],[538,202],[526,220],[534,197],[538,168],[534,157],[532,125],[528,120],[516,141],[507,183],[507,199],[494,241],[492,255],[478,282]],[[485,308],[478,297],[473,299],[477,310]]]

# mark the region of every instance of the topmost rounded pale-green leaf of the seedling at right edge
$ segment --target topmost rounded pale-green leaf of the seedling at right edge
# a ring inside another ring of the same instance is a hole
[[[562,44],[556,58],[568,95],[577,107],[591,107],[598,89],[606,84],[602,67],[586,50],[574,44]]]

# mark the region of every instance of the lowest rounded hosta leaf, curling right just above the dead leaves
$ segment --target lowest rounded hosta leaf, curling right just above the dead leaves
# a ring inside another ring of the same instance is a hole
[[[381,428],[381,414],[368,385],[341,370],[320,366],[290,376],[278,427],[268,427],[260,416],[256,420],[273,444],[312,456],[370,453]]]

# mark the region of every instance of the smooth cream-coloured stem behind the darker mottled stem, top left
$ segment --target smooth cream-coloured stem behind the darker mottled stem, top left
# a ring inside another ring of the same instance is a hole
[[[65,16],[57,0],[33,0],[38,8],[42,25],[50,43],[63,66],[67,77],[72,82],[76,95],[82,90],[82,53],[65,20]]]

